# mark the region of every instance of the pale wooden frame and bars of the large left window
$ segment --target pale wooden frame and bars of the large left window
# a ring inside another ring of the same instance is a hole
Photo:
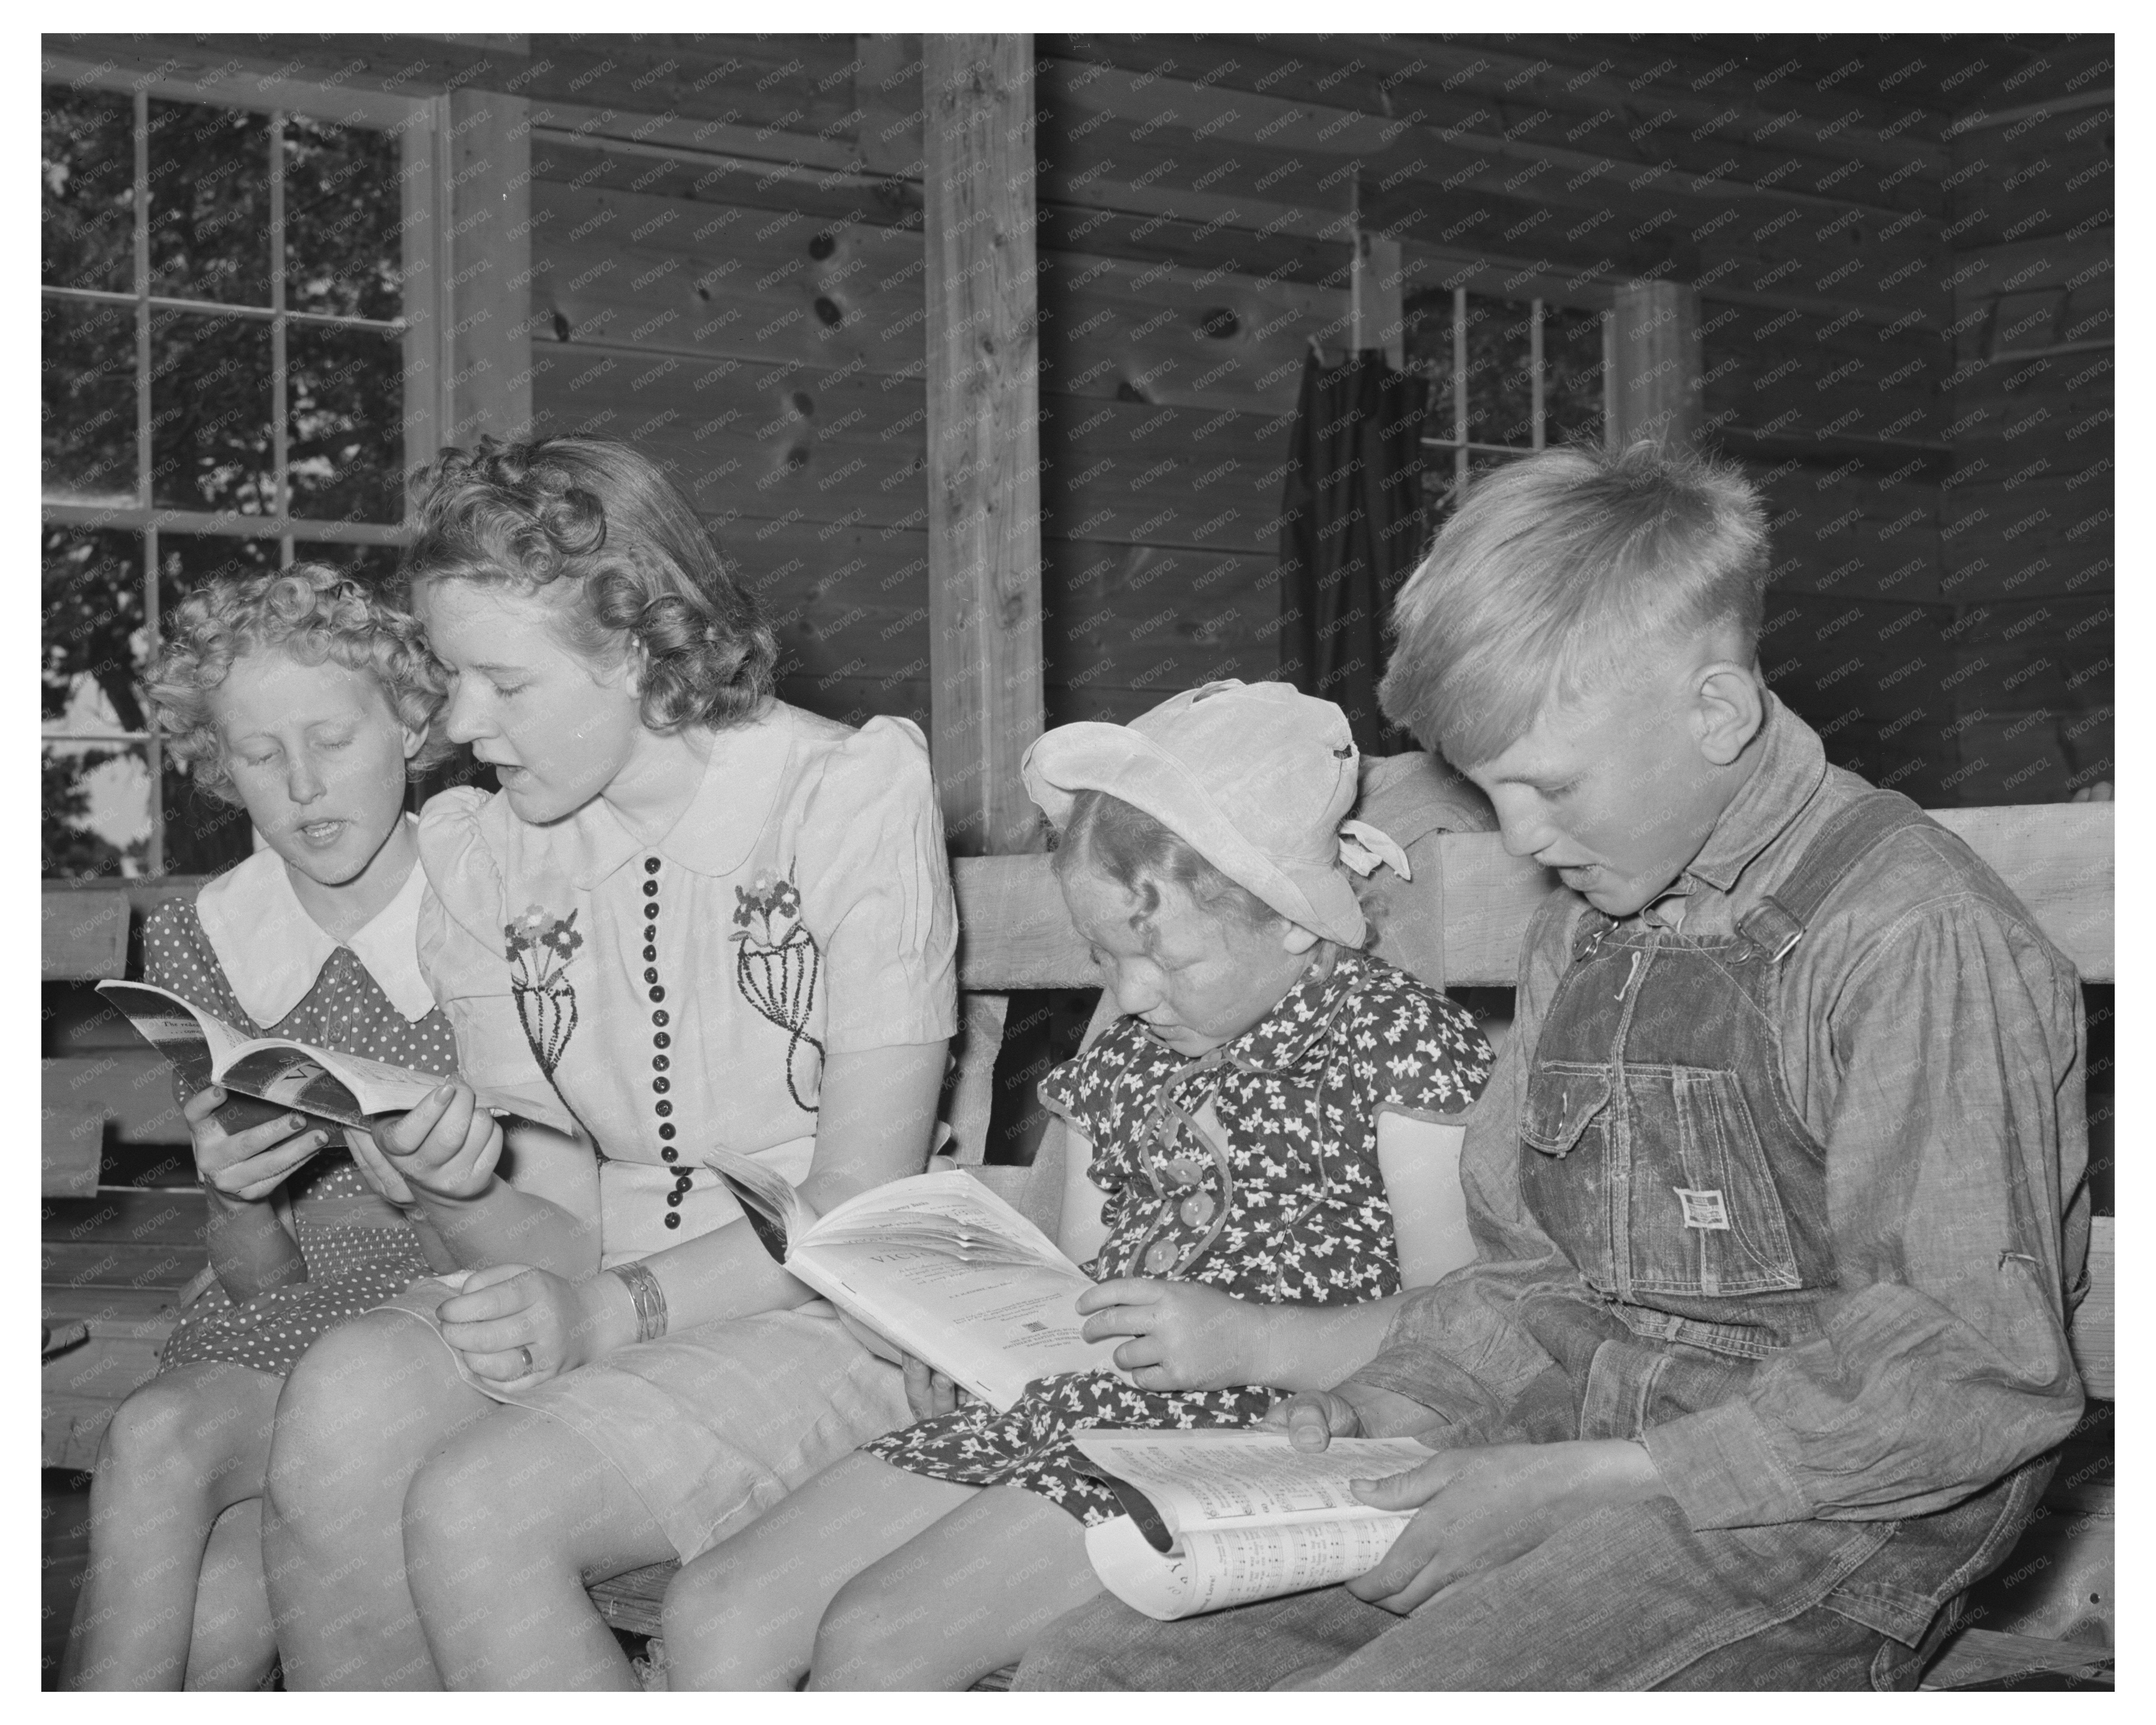
[[[397,95],[392,91],[347,88],[313,84],[280,75],[248,75],[235,69],[231,78],[175,78],[149,58],[129,54],[103,54],[95,60],[78,54],[45,54],[39,65],[39,101],[43,88],[65,84],[71,91],[114,91],[134,99],[134,185],[138,190],[134,209],[134,289],[127,293],[110,289],[50,287],[39,267],[39,304],[60,300],[67,304],[101,304],[136,308],[136,500],[132,505],[65,502],[39,496],[39,535],[45,530],[86,528],[121,530],[138,535],[140,580],[142,580],[142,627],[155,643],[160,632],[160,530],[224,537],[224,539],[276,539],[278,567],[293,563],[293,543],[326,546],[403,546],[412,537],[410,489],[403,498],[403,520],[399,522],[328,522],[291,515],[289,485],[278,496],[276,513],[250,515],[241,511],[168,509],[155,505],[149,487],[151,470],[151,427],[149,427],[149,315],[155,310],[213,310],[237,317],[265,319],[272,328],[270,388],[272,388],[272,438],[276,448],[276,470],[285,472],[287,438],[287,369],[285,330],[289,323],[319,323],[338,328],[403,330],[403,468],[410,474],[429,461],[442,444],[446,423],[446,328],[444,295],[448,270],[448,203],[446,183],[448,151],[442,140],[448,134],[446,95]],[[399,179],[403,181],[403,315],[395,321],[369,317],[334,317],[321,313],[298,313],[285,306],[282,267],[282,153],[270,151],[270,237],[272,272],[267,306],[224,306],[216,302],[179,300],[149,291],[149,201],[140,190],[149,183],[149,101],[192,101],[203,106],[246,108],[261,114],[306,114],[308,119],[341,125],[362,125],[388,132],[399,140]],[[41,731],[45,744],[103,744],[116,750],[142,750],[149,768],[149,845],[142,860],[144,878],[164,878],[164,737],[155,727],[149,731]]]

